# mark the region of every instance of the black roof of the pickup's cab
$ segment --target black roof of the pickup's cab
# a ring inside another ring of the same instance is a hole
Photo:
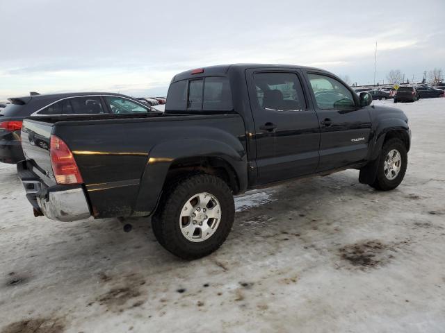
[[[299,65],[280,65],[280,64],[231,64],[231,65],[216,65],[209,67],[201,67],[200,69],[204,69],[202,73],[192,74],[195,69],[190,69],[188,71],[183,71],[172,78],[172,82],[185,80],[187,78],[197,78],[202,76],[225,76],[229,72],[229,70],[235,71],[245,71],[246,69],[253,68],[289,68],[289,69],[314,69],[321,70],[315,67],[305,67]]]

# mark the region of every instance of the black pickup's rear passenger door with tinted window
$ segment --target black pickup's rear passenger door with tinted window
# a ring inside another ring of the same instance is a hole
[[[258,182],[313,173],[318,164],[318,118],[298,69],[246,71],[257,145]]]

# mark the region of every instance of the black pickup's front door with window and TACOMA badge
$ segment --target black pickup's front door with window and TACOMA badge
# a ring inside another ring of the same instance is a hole
[[[353,91],[334,76],[316,71],[305,73],[321,124],[317,171],[365,160],[371,134],[371,106],[359,108]]]

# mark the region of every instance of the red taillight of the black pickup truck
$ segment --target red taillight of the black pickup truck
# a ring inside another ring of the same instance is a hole
[[[51,135],[51,166],[58,184],[81,184],[83,182],[81,171],[77,167],[76,160],[60,137]]]

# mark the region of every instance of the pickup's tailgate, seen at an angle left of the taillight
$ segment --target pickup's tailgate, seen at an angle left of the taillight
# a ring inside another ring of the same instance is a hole
[[[22,148],[26,160],[36,173],[41,173],[42,180],[49,178],[54,182],[49,155],[49,141],[53,125],[45,121],[25,119],[22,127]]]

